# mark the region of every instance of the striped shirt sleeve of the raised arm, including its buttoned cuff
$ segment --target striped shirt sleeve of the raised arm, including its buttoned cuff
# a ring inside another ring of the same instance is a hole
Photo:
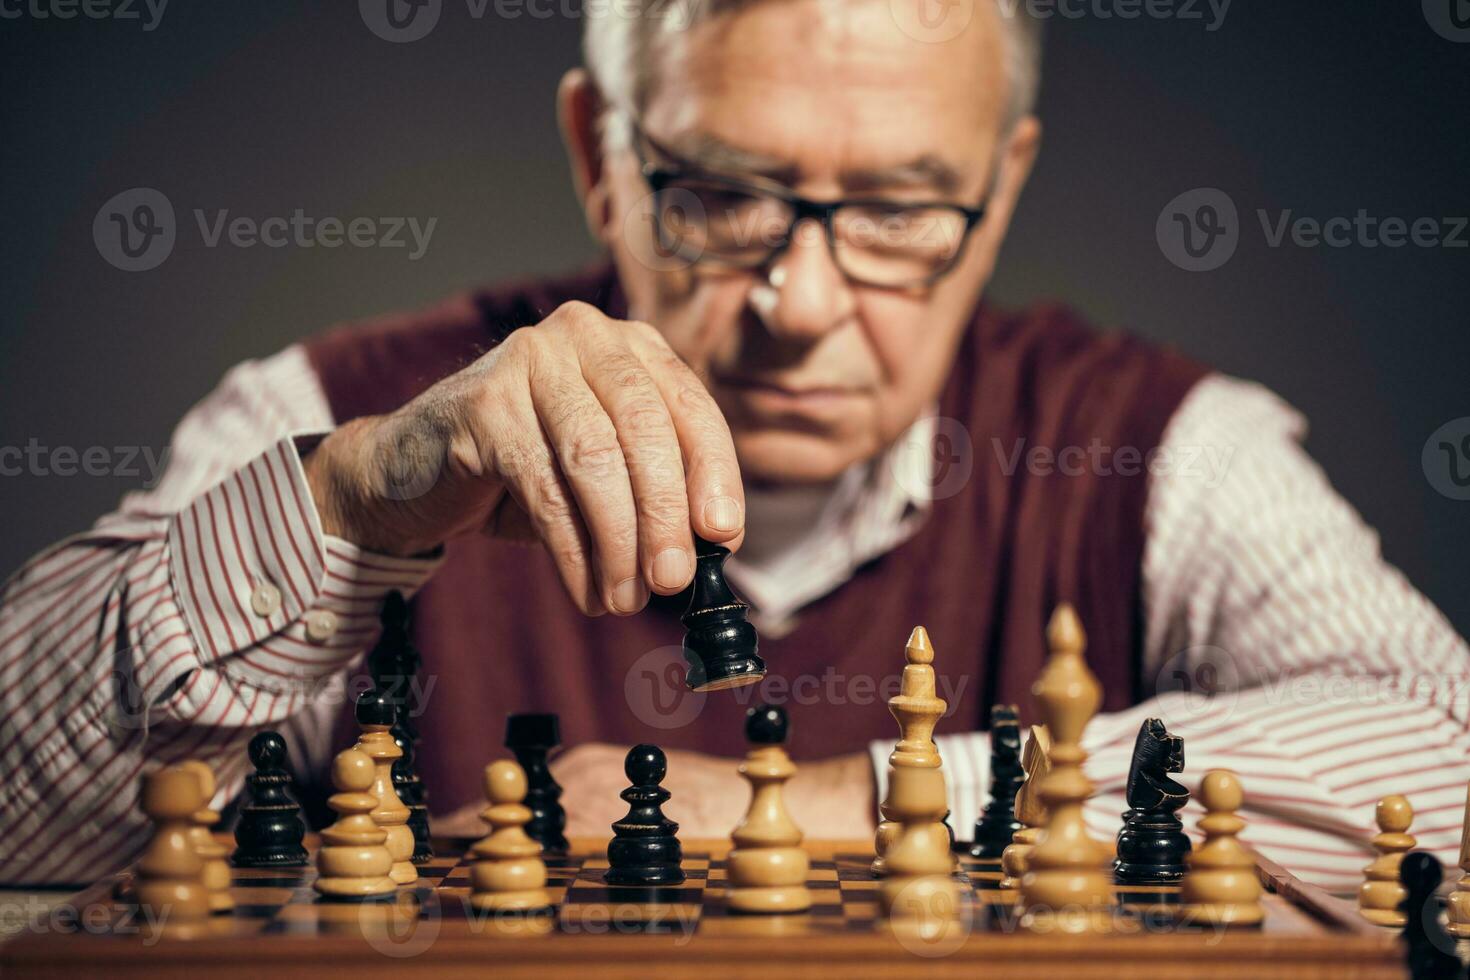
[[[331,426],[300,347],[247,361],[179,423],[157,486],[6,582],[0,880],[94,879],[147,837],[144,773],[200,758],[228,799],[251,735],[340,704],[382,598],[438,560],[322,533],[301,457]]]

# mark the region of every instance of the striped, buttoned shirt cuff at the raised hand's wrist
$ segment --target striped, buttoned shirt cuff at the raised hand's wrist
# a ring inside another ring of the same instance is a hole
[[[175,594],[204,664],[250,649],[266,673],[318,677],[372,642],[382,598],[413,595],[441,555],[397,558],[322,533],[288,436],[171,519]]]

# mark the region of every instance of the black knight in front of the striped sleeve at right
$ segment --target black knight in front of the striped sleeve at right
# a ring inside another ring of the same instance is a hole
[[[1133,742],[1127,805],[1117,835],[1113,877],[1119,884],[1177,884],[1185,877],[1189,837],[1179,810],[1189,790],[1169,777],[1185,770],[1185,741],[1148,718]]]

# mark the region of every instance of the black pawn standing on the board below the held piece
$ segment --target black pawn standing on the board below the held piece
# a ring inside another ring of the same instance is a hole
[[[657,745],[635,745],[623,763],[628,789],[619,793],[628,802],[628,815],[613,824],[607,845],[609,884],[679,884],[684,882],[684,849],[675,836],[679,824],[663,815],[669,790],[660,786],[669,763]]]

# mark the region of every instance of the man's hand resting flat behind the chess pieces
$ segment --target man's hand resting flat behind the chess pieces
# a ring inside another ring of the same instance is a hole
[[[750,788],[736,771],[739,760],[669,749],[669,774],[663,780],[672,795],[663,811],[679,824],[679,836],[728,837],[750,805]],[[567,836],[609,837],[614,820],[628,813],[619,793],[628,788],[623,758],[628,749],[592,742],[576,745],[551,761],[551,774],[562,785]],[[856,752],[831,760],[797,763],[786,783],[786,810],[811,839],[858,840],[875,829],[876,802],[867,755]],[[434,821],[435,833],[479,836],[484,804],[465,807]]]

